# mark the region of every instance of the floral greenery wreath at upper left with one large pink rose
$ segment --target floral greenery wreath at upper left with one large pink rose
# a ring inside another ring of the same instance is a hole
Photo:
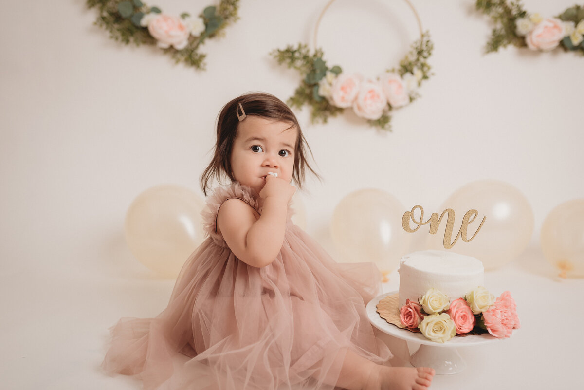
[[[163,13],[141,0],[87,0],[88,8],[99,9],[95,24],[110,33],[110,38],[129,44],[156,44],[175,62],[205,69],[206,54],[199,53],[200,44],[221,36],[223,29],[238,19],[239,0],[221,0],[208,6],[198,16],[183,12],[180,16]]]

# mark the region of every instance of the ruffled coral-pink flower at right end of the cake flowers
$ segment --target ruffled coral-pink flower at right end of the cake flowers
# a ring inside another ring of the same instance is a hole
[[[517,305],[509,291],[499,298],[486,311],[482,312],[486,330],[498,338],[510,337],[513,329],[519,329]]]

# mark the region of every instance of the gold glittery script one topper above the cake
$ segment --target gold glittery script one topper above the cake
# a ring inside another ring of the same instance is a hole
[[[416,221],[413,213],[416,208],[420,209],[420,219]],[[485,223],[486,217],[482,217],[481,224],[475,231],[475,234],[472,235],[471,238],[467,238],[467,228],[468,225],[477,218],[478,211],[477,210],[468,210],[466,214],[464,214],[463,222],[460,225],[460,229],[458,230],[458,234],[454,238],[453,242],[450,242],[452,239],[452,230],[454,228],[454,210],[451,208],[447,208],[440,214],[438,217],[438,213],[432,213],[432,216],[428,218],[426,222],[424,222],[424,209],[422,206],[414,206],[412,207],[412,211],[406,211],[404,216],[402,217],[402,227],[406,232],[413,233],[420,228],[422,225],[430,224],[430,234],[436,234],[438,231],[438,227],[440,226],[440,222],[442,221],[442,217],[444,214],[448,214],[448,218],[446,220],[446,230],[444,231],[444,249],[450,249],[454,246],[454,244],[458,241],[458,238],[462,238],[464,242],[469,242],[471,239],[475,238],[479,230],[482,228],[482,224]],[[410,227],[409,221],[413,221],[414,224],[418,225],[415,229]]]

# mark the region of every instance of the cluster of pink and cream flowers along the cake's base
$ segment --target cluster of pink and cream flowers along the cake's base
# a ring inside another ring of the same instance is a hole
[[[489,332],[497,338],[510,337],[519,329],[517,305],[509,291],[499,298],[479,286],[450,302],[449,297],[436,288],[430,288],[419,298],[419,303],[406,300],[399,309],[399,321],[408,329],[418,329],[427,339],[444,343],[455,335],[471,330]]]

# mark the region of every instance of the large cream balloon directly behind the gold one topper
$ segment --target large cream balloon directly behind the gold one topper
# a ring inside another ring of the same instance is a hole
[[[477,210],[475,219],[468,225],[467,238],[471,238],[486,217],[478,234],[469,242],[461,238],[450,249],[444,249],[443,239],[447,215],[444,214],[436,234],[429,235],[430,249],[451,250],[461,255],[477,257],[485,270],[493,270],[510,262],[527,248],[533,234],[533,211],[526,197],[509,183],[500,180],[478,180],[466,184],[443,203],[439,214],[446,208],[455,213],[451,242],[454,241],[468,210]],[[430,215],[425,215],[427,220]],[[426,227],[429,225],[425,225]],[[422,228],[420,228],[420,231]]]

